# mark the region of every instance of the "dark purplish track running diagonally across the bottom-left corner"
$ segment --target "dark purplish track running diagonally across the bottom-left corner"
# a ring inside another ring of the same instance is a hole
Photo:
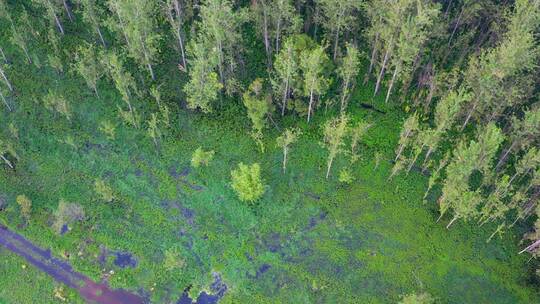
[[[90,303],[100,304],[142,304],[143,299],[125,290],[112,290],[106,284],[95,283],[85,275],[51,255],[50,250],[43,250],[23,236],[10,231],[0,224],[0,245],[23,257],[29,263],[71,288]]]

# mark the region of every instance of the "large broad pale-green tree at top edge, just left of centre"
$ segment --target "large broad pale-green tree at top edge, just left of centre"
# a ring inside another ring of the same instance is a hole
[[[217,55],[219,79],[223,88],[234,90],[236,59],[241,51],[241,16],[233,11],[229,0],[205,0],[200,6],[201,20],[198,39],[206,46],[213,46]]]

